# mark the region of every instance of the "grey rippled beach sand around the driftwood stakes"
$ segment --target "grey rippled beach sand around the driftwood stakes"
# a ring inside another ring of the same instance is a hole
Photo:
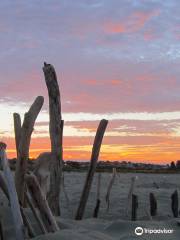
[[[126,216],[125,208],[127,205],[127,195],[130,186],[131,177],[138,176],[135,184],[135,194],[139,197],[138,221],[130,221],[130,216]],[[105,195],[107,185],[111,174],[102,174],[101,187],[101,207],[98,219],[92,218],[92,213],[96,203],[96,180],[95,175],[92,190],[89,196],[84,219],[75,221],[74,216],[80,199],[83,187],[85,173],[65,173],[65,188],[70,203],[67,205],[66,197],[61,194],[61,211],[62,216],[57,218],[57,222],[61,230],[54,234],[46,236],[38,236],[34,239],[50,239],[50,240],[133,240],[133,239],[179,239],[180,226],[178,220],[173,218],[171,211],[171,194],[176,189],[179,191],[180,175],[178,174],[118,174],[113,185],[110,197],[110,209],[107,212]],[[158,188],[157,188],[158,187]],[[158,201],[158,215],[149,220],[147,212],[149,211],[149,193],[153,192]],[[0,215],[5,228],[5,240],[14,238],[14,229],[11,219],[10,209],[2,200],[1,194]],[[37,227],[35,219],[31,212],[27,211],[31,222],[37,233],[40,230]],[[141,236],[135,234],[135,228],[142,227],[144,233]],[[145,233],[145,228],[149,230],[173,231],[171,233]]]

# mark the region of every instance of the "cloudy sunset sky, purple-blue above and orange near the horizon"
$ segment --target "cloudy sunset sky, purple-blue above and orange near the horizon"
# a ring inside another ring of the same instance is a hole
[[[30,157],[50,151],[43,62],[61,91],[64,160],[89,160],[100,119],[101,160],[180,159],[180,1],[1,0],[0,141],[16,156],[13,113],[45,98]]]

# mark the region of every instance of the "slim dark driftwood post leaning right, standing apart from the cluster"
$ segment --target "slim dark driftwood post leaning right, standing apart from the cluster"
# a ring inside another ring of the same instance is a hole
[[[108,121],[105,119],[102,119],[100,121],[100,124],[96,132],[96,137],[94,140],[92,154],[91,154],[90,167],[89,167],[88,174],[86,177],[86,182],[84,184],[84,188],[82,191],[79,207],[76,213],[76,217],[75,217],[76,220],[81,220],[84,215],[84,210],[85,210],[89,192],[91,189],[93,176],[96,171],[99,152],[100,152],[100,148],[101,148],[101,144],[102,144],[102,140],[103,140],[103,136],[104,136],[104,132],[106,130],[107,124],[108,124]]]

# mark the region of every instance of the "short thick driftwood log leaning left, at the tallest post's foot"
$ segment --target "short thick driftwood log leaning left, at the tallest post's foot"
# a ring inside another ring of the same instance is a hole
[[[40,211],[41,218],[48,230],[48,232],[56,232],[59,230],[59,227],[56,223],[56,220],[49,208],[46,196],[42,192],[38,180],[35,175],[26,175],[27,188],[33,198],[34,204]]]

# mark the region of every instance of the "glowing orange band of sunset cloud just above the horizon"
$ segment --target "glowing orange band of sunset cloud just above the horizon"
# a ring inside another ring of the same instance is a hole
[[[16,157],[13,138],[4,139],[8,144],[8,157]],[[93,137],[65,137],[64,160],[89,160]],[[180,140],[173,137],[108,137],[105,136],[99,159],[109,161],[169,163],[180,156]],[[49,138],[33,138],[30,157],[50,151]]]

